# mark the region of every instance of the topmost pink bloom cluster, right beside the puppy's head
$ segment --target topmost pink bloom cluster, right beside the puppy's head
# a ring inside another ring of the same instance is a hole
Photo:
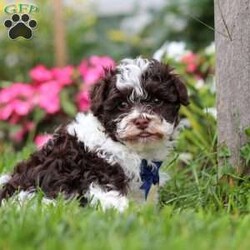
[[[104,73],[104,68],[114,68],[115,62],[107,56],[91,56],[78,67],[82,78],[87,85],[96,83]]]

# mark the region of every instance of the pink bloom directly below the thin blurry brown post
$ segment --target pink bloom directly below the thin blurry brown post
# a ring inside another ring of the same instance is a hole
[[[51,73],[54,80],[56,80],[61,86],[66,86],[72,84],[73,71],[74,68],[69,65],[64,68],[53,68]]]

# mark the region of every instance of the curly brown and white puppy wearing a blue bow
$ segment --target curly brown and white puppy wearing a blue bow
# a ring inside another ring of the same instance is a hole
[[[188,104],[186,87],[168,65],[139,57],[106,69],[90,96],[89,113],[5,176],[0,202],[37,188],[47,199],[62,194],[103,210],[148,199],[173,146],[180,105]]]

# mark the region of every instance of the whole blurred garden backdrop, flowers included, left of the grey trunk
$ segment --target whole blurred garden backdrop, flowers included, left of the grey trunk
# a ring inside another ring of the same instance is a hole
[[[20,3],[39,8],[30,13],[38,23],[30,40],[9,39],[2,25],[12,16],[5,6]],[[189,88],[181,161],[201,152],[214,161],[213,0],[3,0],[0,23],[0,153],[39,147],[59,124],[87,111],[103,66],[154,55]]]

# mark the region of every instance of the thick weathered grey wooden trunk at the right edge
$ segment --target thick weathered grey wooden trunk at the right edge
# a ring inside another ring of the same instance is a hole
[[[250,0],[214,0],[218,143],[242,170],[240,148],[250,127]]]

